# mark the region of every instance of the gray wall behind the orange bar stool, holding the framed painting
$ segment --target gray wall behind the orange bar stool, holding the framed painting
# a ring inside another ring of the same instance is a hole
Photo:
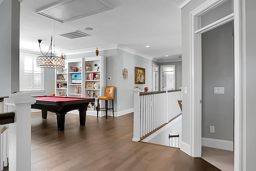
[[[67,55],[65,58],[71,59],[91,56],[95,56],[95,52]],[[142,91],[146,86],[149,87],[149,91],[152,91],[153,64],[158,63],[118,49],[100,51],[99,56],[106,56],[106,77],[111,77],[111,80],[106,79],[106,85],[115,86],[114,111],[118,112],[133,108],[133,89],[135,86],[134,67],[146,69],[146,84],[138,84],[138,86]],[[122,78],[122,70],[124,68],[128,70],[127,80],[123,80]]]

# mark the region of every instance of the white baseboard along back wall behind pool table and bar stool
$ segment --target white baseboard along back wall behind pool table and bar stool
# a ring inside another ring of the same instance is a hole
[[[122,116],[122,115],[126,115],[126,114],[131,113],[131,112],[133,112],[133,108],[123,110],[123,111],[118,111],[118,112],[114,111],[114,117],[119,117],[119,116]],[[72,111],[69,111],[68,113],[79,114],[79,111],[78,110],[72,110]],[[96,110],[87,110],[86,115],[97,116],[97,111]],[[113,115],[112,110],[109,110],[108,111],[108,116],[112,116],[112,115]],[[99,111],[99,117],[103,117],[103,116],[106,116],[105,111]]]

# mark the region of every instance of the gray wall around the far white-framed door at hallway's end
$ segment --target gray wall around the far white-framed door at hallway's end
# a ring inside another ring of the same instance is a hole
[[[175,65],[175,78],[176,78],[176,89],[182,87],[182,62],[163,62],[159,63],[159,66],[163,65]],[[160,67],[159,67],[160,70]],[[159,72],[159,78],[161,77],[161,72]],[[160,79],[159,79],[160,80]]]

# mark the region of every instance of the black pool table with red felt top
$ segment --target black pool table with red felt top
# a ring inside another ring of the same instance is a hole
[[[65,115],[68,111],[79,110],[80,125],[85,125],[86,110],[94,98],[89,97],[59,97],[59,96],[36,96],[36,103],[31,105],[32,109],[42,110],[42,119],[47,119],[47,111],[56,113],[58,131],[64,131]]]

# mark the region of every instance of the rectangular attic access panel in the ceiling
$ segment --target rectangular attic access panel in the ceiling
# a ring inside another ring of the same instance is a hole
[[[113,7],[103,0],[64,0],[44,6],[35,13],[63,23],[111,9]]]

